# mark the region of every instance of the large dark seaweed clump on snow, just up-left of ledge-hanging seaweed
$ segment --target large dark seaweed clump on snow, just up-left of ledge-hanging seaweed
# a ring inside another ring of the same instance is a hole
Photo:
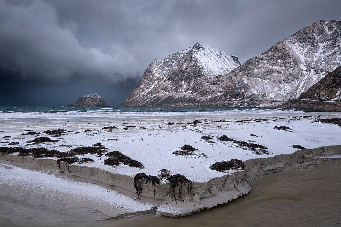
[[[144,166],[142,165],[142,163],[131,159],[130,157],[122,154],[119,151],[112,151],[109,152],[107,154],[105,154],[105,156],[109,157],[106,160],[104,160],[104,165],[108,165],[108,166],[118,166],[119,164],[123,164],[126,166],[130,166],[130,167],[137,167],[139,169],[143,169]]]

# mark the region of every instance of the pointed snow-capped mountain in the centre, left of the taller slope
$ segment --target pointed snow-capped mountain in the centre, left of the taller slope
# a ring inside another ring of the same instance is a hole
[[[163,60],[154,60],[137,88],[120,105],[150,106],[206,100],[208,91],[200,94],[202,91],[198,90],[201,84],[206,85],[207,80],[213,81],[212,78],[229,73],[239,65],[236,56],[196,43]]]

